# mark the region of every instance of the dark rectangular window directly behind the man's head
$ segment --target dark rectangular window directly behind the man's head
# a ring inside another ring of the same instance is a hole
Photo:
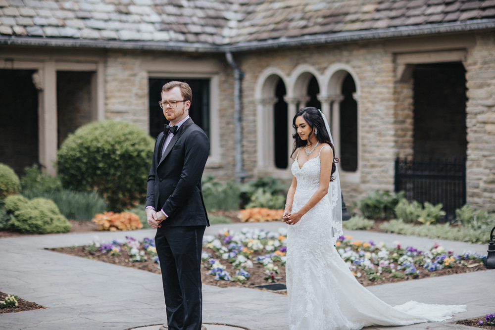
[[[163,125],[168,120],[163,116],[163,109],[158,104],[161,101],[163,85],[171,81],[182,81],[189,84],[193,91],[193,100],[189,108],[191,119],[209,138],[210,135],[210,80],[209,79],[149,79],[149,135],[156,138],[163,131]],[[180,105],[178,105],[180,106]]]

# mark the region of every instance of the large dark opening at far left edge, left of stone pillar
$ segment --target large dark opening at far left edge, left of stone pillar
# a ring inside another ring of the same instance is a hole
[[[0,70],[0,163],[21,175],[38,163],[38,90],[32,70]]]

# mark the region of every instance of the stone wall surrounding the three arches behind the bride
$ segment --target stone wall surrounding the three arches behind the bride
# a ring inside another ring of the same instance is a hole
[[[255,84],[262,70],[275,67],[290,75],[299,64],[307,64],[321,74],[332,64],[349,65],[357,74],[361,92],[358,99],[360,180],[341,175],[347,202],[374,189],[394,189],[396,133],[394,114],[394,65],[392,54],[381,44],[298,47],[236,55],[246,76],[243,80],[244,161],[248,178],[256,170]],[[321,94],[321,87],[320,87]],[[270,134],[271,132],[266,132]]]

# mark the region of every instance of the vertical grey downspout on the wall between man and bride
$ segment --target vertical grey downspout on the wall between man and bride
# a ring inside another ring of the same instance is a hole
[[[234,60],[230,51],[225,52],[225,58],[229,65],[234,69],[234,123],[236,130],[236,180],[244,182],[246,171],[243,166],[243,121],[242,121],[242,95],[241,95],[241,80],[244,77],[244,72]]]

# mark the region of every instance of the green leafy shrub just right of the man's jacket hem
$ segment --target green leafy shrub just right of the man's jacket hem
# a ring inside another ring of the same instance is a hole
[[[240,184],[235,181],[214,182],[213,177],[203,177],[201,191],[208,212],[239,210]]]

